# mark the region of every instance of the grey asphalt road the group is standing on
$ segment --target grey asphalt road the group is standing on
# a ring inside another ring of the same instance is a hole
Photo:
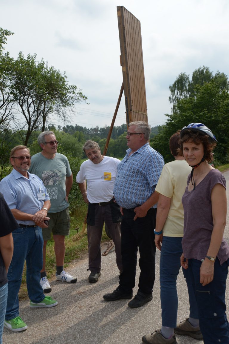
[[[229,204],[229,171],[227,179],[227,197]],[[229,243],[229,211],[225,238]],[[103,246],[104,247],[104,246]],[[3,332],[4,344],[140,344],[144,334],[153,332],[161,326],[160,252],[156,255],[156,280],[153,300],[143,307],[131,309],[129,300],[107,302],[103,294],[113,291],[118,286],[118,269],[115,264],[114,249],[102,256],[101,277],[97,283],[89,283],[88,259],[85,257],[72,263],[67,271],[77,276],[77,283],[51,281],[51,293],[47,294],[58,301],[53,308],[30,308],[29,300],[20,302],[20,316],[28,325],[23,332]],[[136,281],[139,277],[137,269]],[[177,282],[179,308],[178,322],[188,317],[188,295],[182,272]],[[134,293],[137,292],[137,286]],[[226,304],[229,309],[229,280],[226,290]],[[227,312],[229,314],[229,312]],[[229,315],[228,315],[229,318]],[[176,336],[178,344],[202,344],[185,336]]]

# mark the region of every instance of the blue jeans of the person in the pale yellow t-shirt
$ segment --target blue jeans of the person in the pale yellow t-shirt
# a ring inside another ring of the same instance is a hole
[[[182,255],[182,237],[163,236],[160,258],[161,317],[162,326],[176,327],[178,295],[176,279],[179,274]],[[190,304],[190,317],[198,319],[198,309],[189,269],[183,269]]]

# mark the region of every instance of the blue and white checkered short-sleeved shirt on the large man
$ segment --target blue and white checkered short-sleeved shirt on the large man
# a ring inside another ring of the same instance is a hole
[[[125,158],[117,166],[115,179],[115,200],[123,208],[130,209],[142,205],[152,195],[164,166],[160,153],[150,147],[149,143]],[[154,204],[152,208],[157,208]]]

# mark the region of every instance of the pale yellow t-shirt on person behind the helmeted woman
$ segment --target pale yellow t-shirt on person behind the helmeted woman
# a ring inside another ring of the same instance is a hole
[[[163,227],[163,235],[183,237],[184,209],[182,196],[192,168],[185,160],[174,160],[164,165],[155,191],[171,198],[169,214]]]

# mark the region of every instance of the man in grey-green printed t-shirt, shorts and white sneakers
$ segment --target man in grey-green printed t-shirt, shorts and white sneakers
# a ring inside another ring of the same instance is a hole
[[[43,181],[50,197],[51,207],[48,211],[49,226],[42,230],[43,268],[41,270],[41,286],[43,291],[51,291],[45,271],[46,244],[53,233],[56,256],[56,279],[75,283],[76,277],[64,270],[65,236],[70,233],[70,216],[68,211],[68,195],[72,186],[72,172],[65,155],[57,153],[58,141],[53,131],[42,132],[37,139],[41,153],[33,155],[30,173],[36,174]]]

